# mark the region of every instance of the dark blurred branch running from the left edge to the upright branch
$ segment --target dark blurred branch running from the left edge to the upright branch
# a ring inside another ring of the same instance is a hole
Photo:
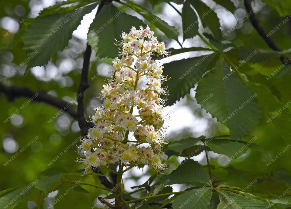
[[[33,99],[34,102],[44,102],[52,105],[58,109],[63,110],[72,118],[77,120],[76,108],[72,104],[66,102],[65,100],[49,95],[45,91],[33,91],[30,88],[22,86],[6,86],[0,82],[0,92],[6,95],[9,101],[13,101],[20,97],[32,98],[34,95],[38,94],[38,96]]]

